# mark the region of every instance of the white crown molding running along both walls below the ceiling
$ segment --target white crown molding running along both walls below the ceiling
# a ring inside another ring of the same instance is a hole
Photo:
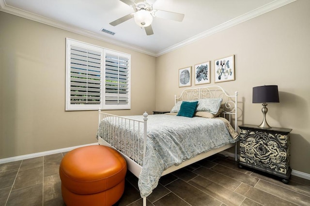
[[[104,36],[101,36],[99,34],[96,34],[96,33],[93,33],[91,31],[88,31],[88,30],[85,30],[85,29],[80,29],[78,27],[74,27],[74,26],[71,26],[71,25],[68,25],[68,24],[64,24],[62,22],[59,22],[59,21],[54,21],[52,19],[49,19],[49,18],[46,18],[46,17],[43,17],[43,16],[40,16],[40,15],[35,15],[33,13],[30,13],[30,12],[27,12],[27,11],[24,11],[24,10],[20,10],[20,9],[17,9],[15,7],[12,7],[12,6],[9,6],[5,3],[5,0],[0,0],[0,11],[3,11],[3,12],[6,12],[6,13],[9,13],[9,14],[12,14],[12,15],[17,15],[17,16],[20,16],[20,17],[23,17],[23,18],[27,18],[27,19],[30,19],[30,20],[33,20],[33,21],[37,21],[37,22],[40,22],[42,24],[46,24],[46,25],[49,25],[49,26],[52,26],[52,27],[56,27],[56,28],[59,28],[59,29],[63,29],[63,30],[67,30],[67,31],[70,31],[70,32],[74,32],[74,33],[77,33],[77,34],[80,34],[80,35],[83,35],[83,36],[87,36],[87,37],[91,37],[93,39],[97,39],[97,40],[100,40],[100,41],[104,41],[104,42],[107,42],[109,44],[114,44],[114,45],[117,45],[117,46],[121,46],[121,47],[124,47],[124,48],[127,48],[127,49],[131,49],[131,50],[134,50],[134,51],[137,51],[137,52],[140,52],[140,53],[144,53],[144,54],[147,54],[147,55],[150,55],[150,56],[154,56],[154,57],[159,57],[163,54],[166,54],[166,53],[169,53],[173,50],[176,50],[178,48],[181,48],[187,44],[191,44],[193,42],[196,42],[200,39],[203,39],[205,37],[208,37],[210,35],[213,35],[217,32],[220,32],[222,30],[225,30],[225,29],[228,29],[228,28],[231,28],[237,24],[240,24],[242,22],[245,22],[249,19],[252,19],[252,18],[255,18],[259,15],[263,15],[267,12],[270,12],[272,10],[275,10],[281,6],[284,6],[286,4],[289,4],[291,2],[294,2],[296,0],[274,0],[272,2],[270,2],[269,4],[266,4],[260,8],[257,8],[251,12],[248,12],[247,14],[245,15],[241,15],[241,16],[238,16],[230,21],[227,21],[221,25],[218,25],[212,29],[209,29],[209,30],[206,30],[200,34],[197,34],[191,38],[188,38],[186,39],[185,41],[182,41],[178,44],[174,44],[172,46],[169,46],[167,47],[166,49],[163,49],[161,51],[158,51],[158,52],[154,52],[154,51],[150,51],[150,50],[146,50],[146,49],[143,49],[143,48],[140,48],[140,47],[137,47],[137,46],[133,46],[131,44],[126,44],[124,42],[121,42],[121,41],[116,41],[116,40],[113,40],[111,38],[108,38],[108,37],[104,37]]]

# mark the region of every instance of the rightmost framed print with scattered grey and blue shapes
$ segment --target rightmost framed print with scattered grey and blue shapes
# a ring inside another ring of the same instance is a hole
[[[215,83],[234,80],[234,55],[214,61]]]

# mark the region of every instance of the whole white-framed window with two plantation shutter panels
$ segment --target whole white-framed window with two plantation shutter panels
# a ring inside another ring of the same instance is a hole
[[[130,109],[128,54],[66,39],[66,111]]]

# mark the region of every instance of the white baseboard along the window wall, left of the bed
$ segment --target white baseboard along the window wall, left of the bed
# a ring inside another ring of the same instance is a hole
[[[54,149],[54,150],[49,150],[49,151],[45,151],[45,152],[37,152],[37,153],[28,154],[28,155],[20,155],[20,156],[16,156],[16,157],[4,158],[4,159],[0,159],[0,164],[7,163],[7,162],[15,162],[15,161],[19,161],[19,160],[26,160],[26,159],[35,158],[35,157],[42,157],[45,155],[57,154],[57,153],[61,153],[61,152],[67,152],[67,151],[70,151],[70,150],[78,148],[78,147],[85,147],[85,146],[90,146],[90,145],[98,145],[98,143],[92,143],[92,144],[87,144],[87,145],[79,145],[79,146],[74,146],[74,147],[66,147],[66,148],[62,148],[62,149]]]

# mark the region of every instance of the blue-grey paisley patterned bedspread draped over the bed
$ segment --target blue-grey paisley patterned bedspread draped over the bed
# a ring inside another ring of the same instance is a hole
[[[127,116],[126,118],[143,120],[143,116]],[[103,122],[107,123],[105,120]],[[116,127],[122,128],[123,126],[118,125]],[[130,127],[130,130],[135,127],[135,130],[138,130],[137,125],[131,125]],[[101,124],[100,130],[104,130],[104,128],[105,125]],[[128,131],[128,128],[126,130]],[[122,132],[114,132],[113,137],[117,136],[119,138],[121,134]],[[105,139],[103,135],[100,136]],[[235,136],[234,138],[231,136],[222,118],[186,118],[165,114],[149,115],[147,120],[146,155],[138,182],[141,197],[147,197],[152,193],[165,169],[172,165],[178,165],[200,153],[234,143],[236,142],[235,138]],[[143,151],[141,144],[143,140],[142,128],[140,128],[140,136],[135,136],[135,139],[136,144],[140,142],[139,147]],[[133,141],[129,144],[128,142],[120,143],[119,140],[108,140],[108,142],[121,150],[121,147],[126,147],[125,145],[134,144]],[[134,148],[133,156],[139,157],[132,157],[132,159],[139,158],[142,160],[143,152],[139,154],[138,146]]]

